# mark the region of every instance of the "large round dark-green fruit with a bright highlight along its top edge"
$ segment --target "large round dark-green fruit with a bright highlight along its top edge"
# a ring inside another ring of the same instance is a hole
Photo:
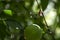
[[[42,29],[35,25],[30,25],[26,27],[24,35],[26,40],[40,40],[42,36]]]

